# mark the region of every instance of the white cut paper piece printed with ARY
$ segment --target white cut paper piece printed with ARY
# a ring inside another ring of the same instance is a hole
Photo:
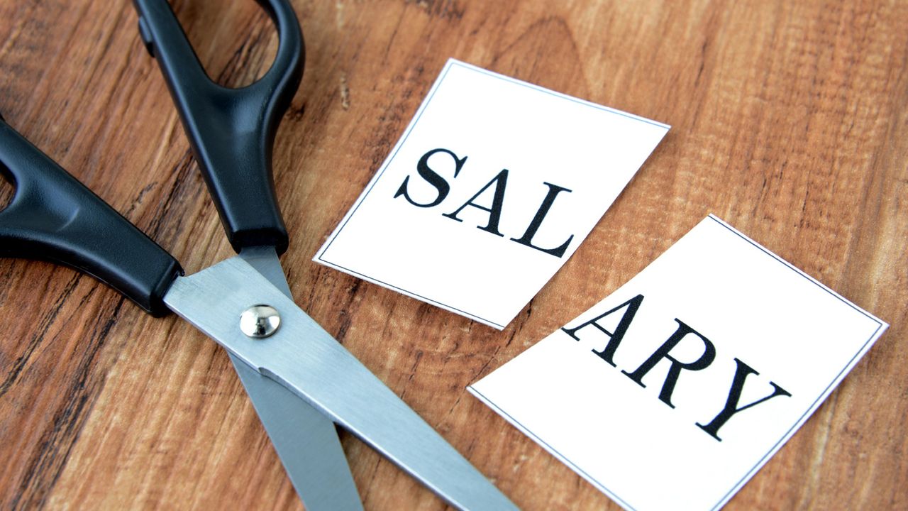
[[[886,327],[711,215],[469,390],[626,509],[717,509]]]

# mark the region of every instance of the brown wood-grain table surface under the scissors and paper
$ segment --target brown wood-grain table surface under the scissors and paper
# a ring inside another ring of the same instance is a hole
[[[173,5],[220,83],[270,64],[254,2]],[[908,508],[908,3],[293,5],[308,55],[274,173],[297,302],[518,506],[618,508],[465,387],[712,212],[891,324],[726,508]],[[502,332],[311,262],[449,57],[673,126]],[[0,112],[188,271],[232,255],[129,2],[3,0]],[[66,268],[0,276],[0,507],[301,507],[212,342]],[[444,508],[341,440],[367,509]]]

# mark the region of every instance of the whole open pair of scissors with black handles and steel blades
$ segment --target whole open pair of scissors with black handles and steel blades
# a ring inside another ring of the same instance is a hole
[[[231,357],[303,504],[361,509],[335,425],[461,509],[514,509],[488,479],[293,303],[289,236],[271,176],[274,135],[300,85],[303,43],[287,0],[258,0],[277,26],[271,69],[239,89],[205,74],[166,0],[134,0],[224,231],[238,255],[185,276],[160,245],[0,117],[0,255],[50,260],[153,316],[182,316]]]

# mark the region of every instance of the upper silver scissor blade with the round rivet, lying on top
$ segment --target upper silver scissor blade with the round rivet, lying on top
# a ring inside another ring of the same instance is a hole
[[[516,509],[498,488],[311,317],[238,257],[180,277],[164,296],[174,312],[260,373],[281,382],[461,509]],[[281,314],[264,339],[239,318],[267,304]]]

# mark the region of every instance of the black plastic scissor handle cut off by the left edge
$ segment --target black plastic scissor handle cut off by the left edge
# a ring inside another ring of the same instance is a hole
[[[94,276],[154,316],[183,269],[172,255],[0,117],[0,175],[15,186],[0,211],[0,255],[44,259]]]

